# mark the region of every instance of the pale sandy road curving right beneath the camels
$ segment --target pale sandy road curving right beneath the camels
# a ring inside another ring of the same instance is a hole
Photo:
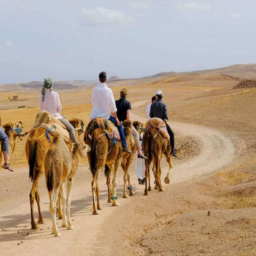
[[[144,118],[135,114],[132,119],[145,122]],[[171,173],[171,183],[213,172],[232,161],[234,147],[231,140],[224,134],[194,124],[175,122],[171,124],[171,127],[177,135],[192,136],[202,145],[201,153],[198,156],[188,162],[179,163],[177,161]],[[134,170],[134,166],[132,168]],[[108,230],[107,225],[110,225],[106,220],[111,218],[114,220],[116,210],[115,207],[111,207],[111,204],[106,203],[107,190],[103,174],[99,184],[102,210],[100,215],[93,216],[91,213],[91,174],[87,165],[80,166],[72,190],[71,218],[74,220],[74,230],[62,228],[61,220],[58,220],[58,228],[62,235],[58,238],[51,235],[51,219],[44,176],[40,182],[42,214],[45,218],[45,223],[40,225],[42,230],[30,229],[29,192],[31,184],[28,181],[28,168],[16,170],[14,173],[1,171],[0,178],[0,228],[2,228],[0,255],[50,256],[58,253],[106,256],[111,254],[108,249],[118,246],[113,238],[113,242],[108,244],[109,248],[102,248],[106,237],[109,238],[112,235],[106,231]],[[134,198],[122,198],[122,170],[119,171],[117,196],[121,206],[118,211],[122,211],[124,204],[132,204],[133,200],[142,196],[144,187],[137,185],[136,180],[135,172],[132,171],[132,185],[136,194]],[[164,196],[164,193],[159,196]],[[146,197],[145,200],[147,200]],[[26,235],[27,233],[29,234]]]

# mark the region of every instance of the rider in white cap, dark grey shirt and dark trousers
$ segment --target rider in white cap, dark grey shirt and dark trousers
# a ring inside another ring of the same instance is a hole
[[[162,97],[163,94],[161,91],[157,91],[156,92],[156,102],[151,104],[150,107],[150,117],[158,117],[161,118],[165,124],[166,124],[166,128],[167,128],[167,132],[170,135],[170,144],[171,144],[171,154],[175,157],[178,157],[176,155],[175,152],[175,148],[174,148],[174,133],[172,132],[172,129],[170,128],[170,126],[167,124],[166,119],[168,120],[168,116],[167,116],[167,108],[166,108],[166,104],[164,102],[162,102]]]

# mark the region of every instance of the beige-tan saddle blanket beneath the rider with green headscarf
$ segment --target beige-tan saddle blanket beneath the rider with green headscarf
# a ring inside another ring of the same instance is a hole
[[[50,134],[51,132],[58,132],[59,134],[70,140],[68,130],[56,117],[54,117],[52,114],[45,110],[38,112],[33,127],[40,127],[47,131],[50,130],[52,126],[55,126],[55,128],[50,131]]]

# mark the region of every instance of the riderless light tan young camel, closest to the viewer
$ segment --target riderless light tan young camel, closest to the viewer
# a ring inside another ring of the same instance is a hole
[[[55,236],[60,236],[56,225],[56,208],[59,190],[61,194],[63,211],[62,226],[67,226],[67,229],[73,229],[70,221],[70,204],[74,175],[78,170],[81,157],[85,156],[90,150],[88,145],[82,145],[80,142],[76,142],[71,154],[67,143],[68,141],[65,142],[62,136],[58,134],[55,135],[53,143],[46,153],[44,160],[46,186],[50,199],[50,212],[52,214],[52,234],[55,234]],[[64,182],[66,180],[67,191],[65,193]]]

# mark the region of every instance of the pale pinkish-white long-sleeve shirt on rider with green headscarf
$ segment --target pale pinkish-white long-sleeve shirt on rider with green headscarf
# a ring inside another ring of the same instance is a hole
[[[56,118],[61,119],[60,111],[62,106],[58,92],[45,90],[44,101],[42,101],[42,95],[40,95],[40,109],[46,110]]]

